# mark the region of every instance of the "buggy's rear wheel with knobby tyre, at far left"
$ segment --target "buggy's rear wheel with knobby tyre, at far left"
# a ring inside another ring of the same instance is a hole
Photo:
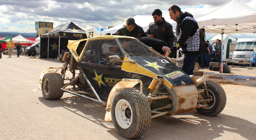
[[[42,94],[46,100],[60,99],[64,81],[59,73],[46,73],[42,79]]]

